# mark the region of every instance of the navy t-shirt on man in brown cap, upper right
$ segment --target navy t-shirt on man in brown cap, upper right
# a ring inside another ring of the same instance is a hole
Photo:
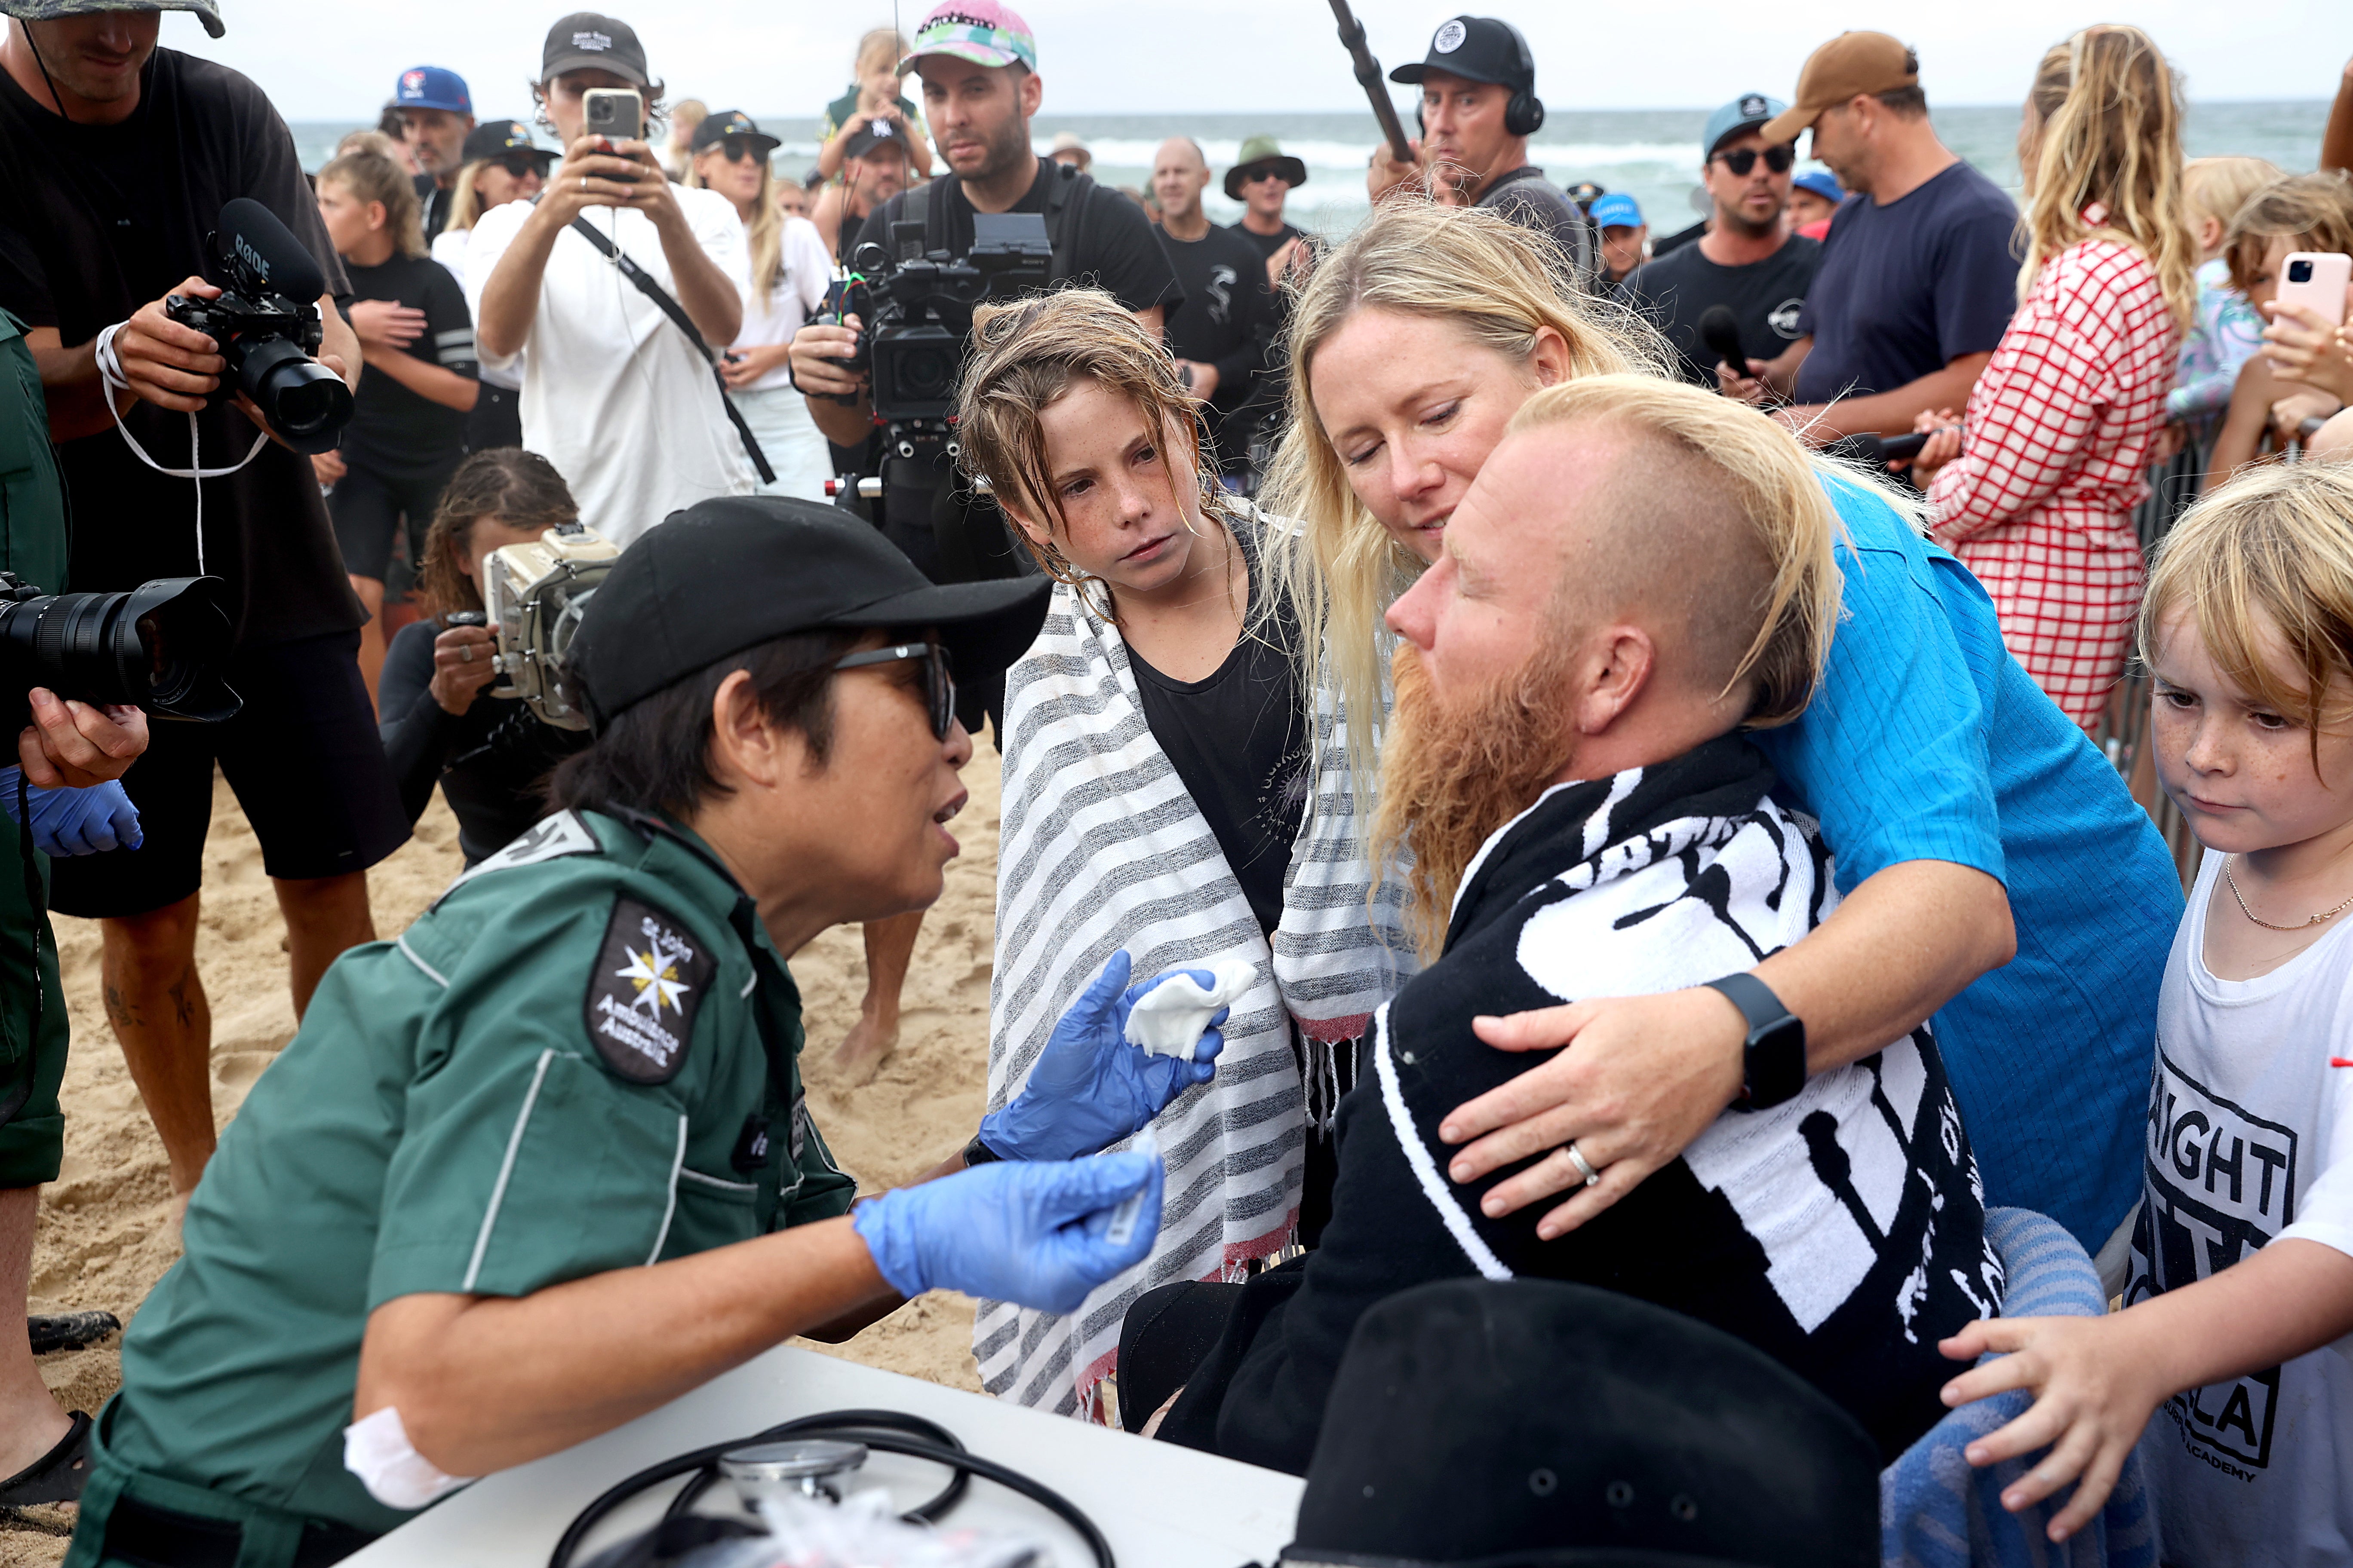
[[[1892,393],[1993,353],[2019,308],[2019,209],[1965,162],[1894,202],[1849,195],[1798,313],[1798,402]]]

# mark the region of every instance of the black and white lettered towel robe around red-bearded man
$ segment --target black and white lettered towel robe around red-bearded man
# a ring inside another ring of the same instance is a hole
[[[1480,1013],[1668,992],[1744,971],[1835,905],[1814,825],[1777,806],[1737,736],[1558,785],[1480,849],[1445,957],[1377,1011],[1339,1117],[1322,1244],[1252,1279],[1162,1436],[1304,1469],[1355,1319],[1431,1279],[1607,1286],[1715,1324],[1847,1406],[1892,1455],[1941,1415],[1937,1340],[2000,1302],[1984,1194],[1927,1030],[1725,1112],[1598,1220],[1537,1239],[1454,1185],[1438,1124],[1544,1060],[1478,1041]],[[1574,1048],[1574,1046],[1572,1046]]]

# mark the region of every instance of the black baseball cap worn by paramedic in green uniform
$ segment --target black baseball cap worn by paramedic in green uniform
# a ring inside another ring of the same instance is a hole
[[[958,679],[1002,672],[1054,583],[932,583],[873,524],[793,496],[718,496],[649,529],[588,599],[569,675],[602,729],[664,686],[774,637],[936,628]]]

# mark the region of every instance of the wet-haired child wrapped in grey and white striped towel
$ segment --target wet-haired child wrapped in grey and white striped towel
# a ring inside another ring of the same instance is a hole
[[[972,336],[962,463],[1059,583],[1005,677],[988,1103],[1021,1091],[1056,997],[1115,952],[1231,985],[1217,1081],[1158,1119],[1172,1199],[1151,1262],[1075,1314],[988,1302],[974,1328],[993,1394],[1101,1420],[1136,1295],[1313,1244],[1353,1044],[1412,964],[1398,896],[1365,882],[1346,778],[1308,773],[1292,632],[1259,569],[1282,524],[1217,489],[1160,334],[1066,289],[986,306]],[[1315,726],[1348,755],[1341,715]]]

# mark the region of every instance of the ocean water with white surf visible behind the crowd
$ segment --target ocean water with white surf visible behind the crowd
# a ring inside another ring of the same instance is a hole
[[[2311,169],[2320,158],[2325,101],[2193,103],[2184,139],[2191,158],[2240,153],[2268,158],[2282,169]],[[784,139],[779,174],[805,174],[816,160],[816,120],[807,115],[755,115],[760,127]],[[1642,205],[1654,235],[1694,221],[1699,193],[1699,134],[1704,108],[1555,110],[1529,143],[1529,160],[1560,186],[1591,179],[1624,190]],[[2017,190],[2017,106],[1948,106],[1934,110],[1946,146]],[[306,169],[318,169],[336,139],[353,125],[301,122],[294,141]],[[1412,129],[1412,127],[1407,127]],[[1282,150],[1308,167],[1308,183],[1292,193],[1289,219],[1329,235],[1346,233],[1365,216],[1365,160],[1381,139],[1372,110],[1332,115],[1040,115],[1031,125],[1042,153],[1056,132],[1075,132],[1094,153],[1094,176],[1111,186],[1144,186],[1153,155],[1167,136],[1200,141],[1209,167],[1224,176],[1245,136],[1273,134]],[[1231,223],[1240,202],[1228,202],[1221,179],[1205,197],[1209,216]]]

